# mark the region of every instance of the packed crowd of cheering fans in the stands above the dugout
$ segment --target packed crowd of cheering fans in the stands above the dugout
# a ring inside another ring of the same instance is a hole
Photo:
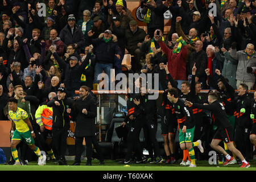
[[[40,3],[46,5],[45,16],[40,16],[44,11]],[[210,3],[216,5],[216,16]],[[49,93],[62,87],[67,97],[75,97],[83,85],[96,89],[102,71],[109,79],[110,69],[123,72],[126,54],[132,55],[128,72],[169,72],[182,92],[193,67],[201,89],[218,88],[218,71],[232,89],[241,84],[246,91],[255,89],[256,1],[140,4],[146,29],[138,26],[125,0],[1,0],[0,119],[8,119],[7,102],[15,97],[30,105],[27,110],[36,125],[35,111],[49,100]],[[172,18],[166,34],[167,10]],[[160,81],[159,90],[168,87],[166,75],[163,80],[167,82]]]

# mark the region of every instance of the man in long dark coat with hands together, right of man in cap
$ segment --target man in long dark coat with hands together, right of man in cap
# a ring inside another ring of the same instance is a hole
[[[96,100],[89,93],[87,86],[81,86],[80,98],[75,101],[73,115],[76,117],[76,158],[73,166],[80,166],[83,151],[82,141],[86,143],[86,166],[92,166],[92,144],[100,154],[100,164],[104,164],[100,146],[96,139],[96,127],[94,125],[97,116]]]

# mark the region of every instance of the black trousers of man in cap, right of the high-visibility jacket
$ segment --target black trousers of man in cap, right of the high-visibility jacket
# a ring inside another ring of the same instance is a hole
[[[65,152],[67,150],[67,137],[68,129],[67,128],[53,128],[52,129],[52,142],[53,146],[56,148],[57,156],[59,158],[64,158]]]

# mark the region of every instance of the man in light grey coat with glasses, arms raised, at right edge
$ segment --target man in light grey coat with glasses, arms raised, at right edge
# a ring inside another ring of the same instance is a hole
[[[246,49],[237,51],[235,46],[232,45],[230,56],[237,61],[237,88],[240,84],[244,83],[248,86],[249,90],[253,89],[255,76],[254,73],[247,73],[247,67],[256,68],[256,55],[254,53],[254,45],[247,44]]]

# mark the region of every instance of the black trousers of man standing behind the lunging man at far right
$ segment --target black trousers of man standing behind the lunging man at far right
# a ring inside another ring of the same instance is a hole
[[[246,160],[252,159],[252,146],[250,142],[250,129],[236,126],[234,140],[237,149],[242,153]]]

